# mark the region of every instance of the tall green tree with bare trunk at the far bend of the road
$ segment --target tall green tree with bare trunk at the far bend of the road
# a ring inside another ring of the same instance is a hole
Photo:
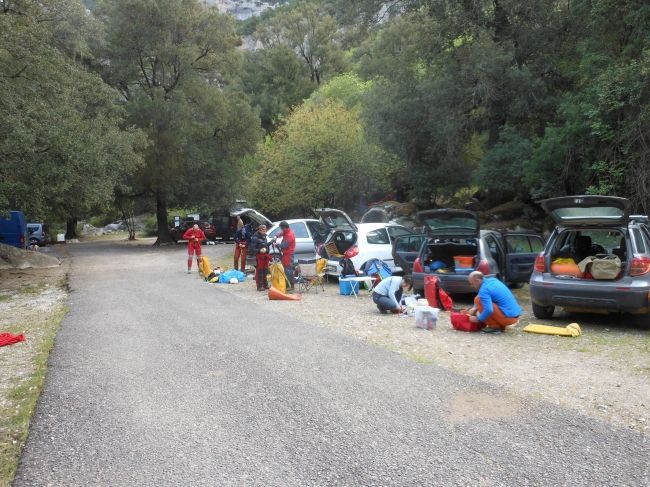
[[[259,138],[237,78],[240,40],[230,17],[198,0],[101,1],[96,14],[104,77],[151,141],[136,187],[155,198],[157,243],[171,241],[169,205],[228,201]]]

